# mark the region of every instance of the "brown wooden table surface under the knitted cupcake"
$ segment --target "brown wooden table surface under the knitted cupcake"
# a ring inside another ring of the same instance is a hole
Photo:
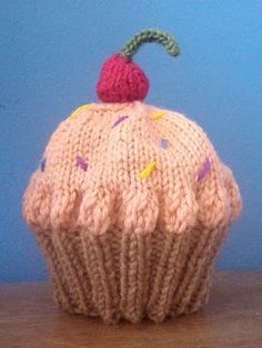
[[[209,305],[163,324],[121,323],[63,314],[47,283],[0,285],[0,347],[262,347],[262,270],[220,272]]]

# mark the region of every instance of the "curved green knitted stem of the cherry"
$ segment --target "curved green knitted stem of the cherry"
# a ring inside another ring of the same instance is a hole
[[[168,32],[159,29],[143,29],[133,35],[122,48],[120,53],[125,57],[132,57],[139,48],[145,42],[157,42],[162,44],[167,52],[173,57],[179,55],[178,42]]]

